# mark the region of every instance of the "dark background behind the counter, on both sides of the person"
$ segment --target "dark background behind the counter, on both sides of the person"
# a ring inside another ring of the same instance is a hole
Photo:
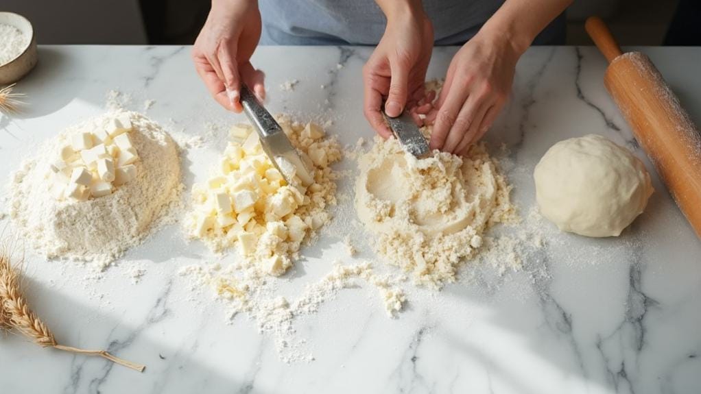
[[[352,1],[352,0],[339,0]],[[207,0],[2,0],[27,17],[41,44],[191,44]],[[584,20],[606,19],[622,45],[701,45],[701,0],[576,0],[567,43],[589,45]]]

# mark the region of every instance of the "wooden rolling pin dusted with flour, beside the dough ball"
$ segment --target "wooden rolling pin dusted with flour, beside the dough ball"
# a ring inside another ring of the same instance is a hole
[[[701,136],[698,130],[646,55],[622,53],[599,17],[587,19],[585,28],[608,60],[604,76],[606,90],[701,238]]]

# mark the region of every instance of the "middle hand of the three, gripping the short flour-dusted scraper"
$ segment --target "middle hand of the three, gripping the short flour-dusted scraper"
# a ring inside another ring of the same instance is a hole
[[[427,101],[423,83],[433,50],[433,26],[420,4],[419,9],[402,6],[386,12],[385,33],[362,69],[363,112],[384,138],[391,132],[381,113],[383,99],[386,98],[385,111],[392,117]],[[414,119],[418,121],[416,113]]]

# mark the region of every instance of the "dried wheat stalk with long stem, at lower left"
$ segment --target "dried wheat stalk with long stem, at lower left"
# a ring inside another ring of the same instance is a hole
[[[72,353],[100,356],[139,372],[143,372],[146,368],[144,365],[112,356],[104,350],[83,350],[57,344],[53,333],[34,314],[34,311],[29,309],[25,297],[22,296],[19,274],[12,267],[10,253],[6,247],[0,249],[0,328],[16,329],[26,337],[32,338],[41,347],[53,347]]]

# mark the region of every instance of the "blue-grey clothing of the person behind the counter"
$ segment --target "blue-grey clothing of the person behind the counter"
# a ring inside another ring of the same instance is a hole
[[[460,45],[472,38],[503,2],[423,0],[423,8],[433,22],[435,44]],[[374,0],[259,0],[259,7],[263,17],[261,45],[376,45],[386,24]],[[557,29],[551,25],[543,31],[536,43],[560,43],[563,37],[564,24],[558,23]]]

